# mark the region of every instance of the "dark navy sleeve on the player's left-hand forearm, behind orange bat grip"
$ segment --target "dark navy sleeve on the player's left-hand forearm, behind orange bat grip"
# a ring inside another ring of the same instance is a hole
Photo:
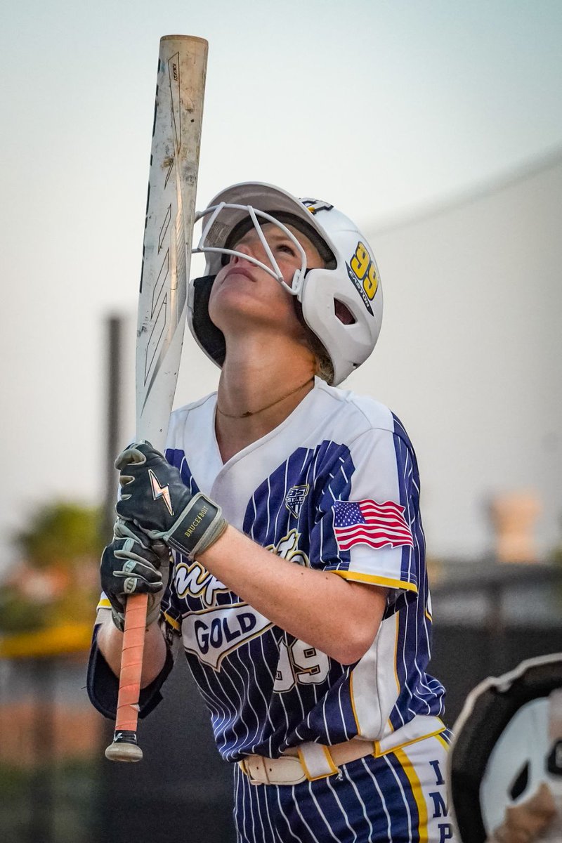
[[[99,624],[94,626],[94,637],[88,659],[87,688],[88,696],[94,708],[104,717],[115,720],[117,709],[117,695],[119,693],[119,679],[111,670],[99,650],[97,643]],[[169,643],[166,645],[166,661],[154,681],[141,689],[139,699],[139,717],[146,717],[162,700],[160,689],[174,666],[174,657]]]

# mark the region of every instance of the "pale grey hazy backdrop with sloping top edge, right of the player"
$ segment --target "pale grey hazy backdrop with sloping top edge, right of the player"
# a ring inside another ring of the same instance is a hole
[[[415,445],[432,556],[488,552],[490,498],[536,491],[546,556],[562,540],[562,157],[367,239],[383,331],[347,381]]]

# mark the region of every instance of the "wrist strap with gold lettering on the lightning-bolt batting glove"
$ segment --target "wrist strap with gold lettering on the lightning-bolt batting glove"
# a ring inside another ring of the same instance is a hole
[[[199,492],[191,498],[173,528],[163,538],[174,550],[195,559],[227,529],[222,509]]]

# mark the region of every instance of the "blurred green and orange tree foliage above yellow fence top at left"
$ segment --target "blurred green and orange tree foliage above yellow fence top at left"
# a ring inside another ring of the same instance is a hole
[[[55,502],[14,536],[20,561],[0,586],[0,632],[31,631],[94,615],[102,510]]]

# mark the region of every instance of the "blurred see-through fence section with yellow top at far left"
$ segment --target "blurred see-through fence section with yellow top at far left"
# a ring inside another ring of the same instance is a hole
[[[87,705],[88,625],[0,641],[0,840],[90,843],[99,717]]]

